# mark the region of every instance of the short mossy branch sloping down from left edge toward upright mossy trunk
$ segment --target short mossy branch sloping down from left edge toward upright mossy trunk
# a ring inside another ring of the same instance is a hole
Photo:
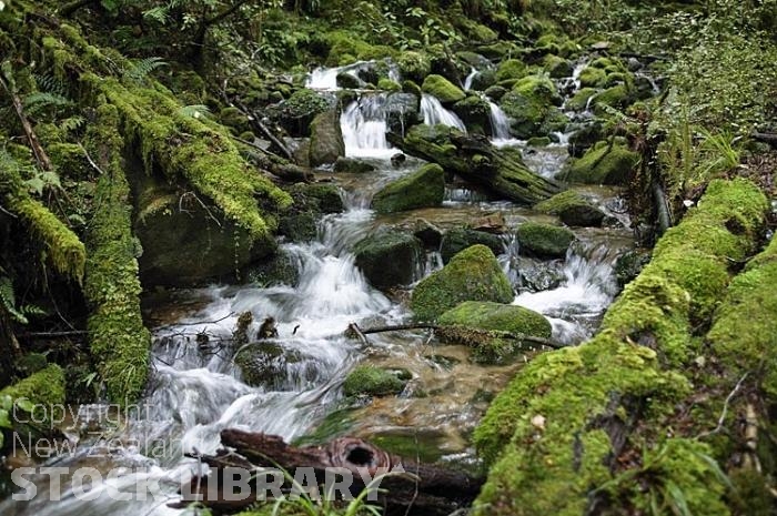
[[[87,251],[83,243],[43,204],[32,199],[21,176],[11,166],[0,169],[0,196],[30,233],[46,244],[47,257],[54,270],[79,284],[83,279]]]

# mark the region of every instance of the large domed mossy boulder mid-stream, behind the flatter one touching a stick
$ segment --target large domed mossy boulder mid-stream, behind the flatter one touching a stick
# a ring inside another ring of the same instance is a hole
[[[509,281],[485,245],[465,249],[422,280],[413,291],[411,308],[416,318],[433,321],[464,301],[513,301]]]

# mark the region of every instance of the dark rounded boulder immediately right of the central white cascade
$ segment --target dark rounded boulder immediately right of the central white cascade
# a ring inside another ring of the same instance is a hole
[[[418,239],[398,230],[382,229],[353,249],[356,266],[377,289],[406,285],[415,279],[423,256]]]

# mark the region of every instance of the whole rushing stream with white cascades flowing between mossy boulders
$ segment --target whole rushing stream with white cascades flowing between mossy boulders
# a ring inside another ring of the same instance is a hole
[[[307,85],[336,89],[340,71],[317,70]],[[472,78],[467,82],[471,84]],[[424,95],[421,109],[427,123],[463,129],[461,120],[433,97]],[[564,164],[567,135],[561,134],[557,143],[546,148],[529,149],[525,142],[507,138],[508,121],[493,103],[492,124],[495,142],[519,146],[529,168],[538,173],[551,176]],[[476,467],[470,435],[493,394],[531,355],[509,365],[486,366],[472,363],[466,347],[443,346],[426,331],[370,335],[366,347],[346,338],[344,332],[352,322],[370,327],[411,318],[402,300],[412,285],[391,296],[373,289],[354,265],[351,250],[381,224],[401,225],[418,217],[441,229],[462,226],[494,213],[504,216],[507,229],[529,220],[553,222],[555,217],[493,200],[466,185],[448,185],[440,208],[376,219],[369,208],[372,195],[422,162],[408,158],[401,168],[392,166],[390,158],[397,151],[386,142],[380,94],[364,92],[359,102],[343,110],[341,125],[346,155],[364,159],[377,170],[367,174],[319,174],[330,176],[341,188],[346,209],[319,222],[314,242],[282,244],[300,271],[299,285],[211,285],[175,291],[165,301],[157,301],[150,321],[153,371],[147,398],[129,415],[100,405],[82,407],[78,425],[67,429],[68,437],[78,442],[75,451],[47,463],[71,469],[95,468],[103,478],[117,467],[123,474],[92,484],[91,500],[75,496],[82,486],[70,475],[62,476],[61,499],[50,499],[44,493],[51,485],[49,477],[39,476],[32,478],[38,496],[30,502],[0,502],[0,514],[182,514],[168,508],[167,503],[178,499],[180,483],[196,472],[198,463],[184,453],[215,452],[219,433],[226,427],[300,442],[349,434],[390,449],[410,451],[425,462]],[[577,344],[596,331],[617,293],[613,263],[633,246],[632,232],[623,224],[628,221],[618,214],[617,191],[596,186],[581,191],[622,223],[576,229],[577,242],[564,260],[543,262],[522,256],[509,233],[498,256],[515,289],[514,304],[543,313],[553,325],[554,338],[565,344]],[[416,266],[416,281],[441,266],[438,253],[428,253]],[[279,336],[272,344],[281,354],[274,363],[276,375],[264,387],[244,384],[232,360],[235,350],[230,340],[244,312],[253,315],[252,333],[268,316],[278,324]],[[413,378],[400,396],[349,406],[341,384],[349,371],[363,362],[404,367]],[[90,434],[93,428],[99,428],[99,434]],[[144,499],[134,494],[137,489]],[[132,494],[132,499],[117,500],[117,494]]]

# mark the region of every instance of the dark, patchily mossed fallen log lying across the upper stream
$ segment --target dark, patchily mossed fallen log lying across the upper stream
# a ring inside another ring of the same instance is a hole
[[[437,163],[509,201],[535,204],[563,189],[561,183],[528,170],[519,151],[497,149],[485,136],[445,125],[414,125],[404,139],[392,133],[387,138],[403,152]]]

